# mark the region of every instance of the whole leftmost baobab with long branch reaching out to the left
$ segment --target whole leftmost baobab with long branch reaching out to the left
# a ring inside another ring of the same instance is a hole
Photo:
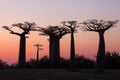
[[[12,24],[12,27],[9,26],[3,26],[4,29],[8,30],[10,34],[14,34],[20,37],[20,46],[19,46],[19,59],[18,59],[18,65],[19,68],[24,68],[25,67],[25,62],[26,62],[26,36],[27,34],[30,33],[30,31],[34,31],[36,28],[35,23],[30,23],[30,22],[24,22],[24,23],[17,23],[17,24]],[[19,28],[22,30],[22,32],[15,32],[13,27]]]

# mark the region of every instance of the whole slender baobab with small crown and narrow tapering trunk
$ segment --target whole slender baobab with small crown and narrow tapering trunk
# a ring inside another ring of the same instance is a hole
[[[74,33],[76,32],[76,28],[79,26],[77,24],[77,21],[63,21],[62,24],[71,30],[70,67],[72,67],[74,66],[75,60]]]

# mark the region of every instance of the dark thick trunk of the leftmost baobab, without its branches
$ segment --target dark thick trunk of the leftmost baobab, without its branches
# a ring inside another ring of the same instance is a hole
[[[25,35],[20,36],[20,47],[19,47],[19,68],[24,68],[26,62],[26,37]]]

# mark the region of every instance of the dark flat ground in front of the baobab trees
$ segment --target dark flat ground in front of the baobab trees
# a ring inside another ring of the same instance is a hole
[[[120,80],[120,70],[104,73],[91,69],[0,70],[0,80]]]

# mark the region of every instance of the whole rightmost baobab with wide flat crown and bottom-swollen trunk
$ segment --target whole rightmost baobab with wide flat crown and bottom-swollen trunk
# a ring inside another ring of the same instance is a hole
[[[97,52],[97,59],[96,59],[96,69],[97,71],[104,71],[105,67],[105,40],[104,40],[104,33],[108,29],[115,26],[118,21],[104,21],[104,20],[88,20],[84,21],[82,24],[82,28],[85,31],[94,31],[98,32],[99,34],[99,47]]]

